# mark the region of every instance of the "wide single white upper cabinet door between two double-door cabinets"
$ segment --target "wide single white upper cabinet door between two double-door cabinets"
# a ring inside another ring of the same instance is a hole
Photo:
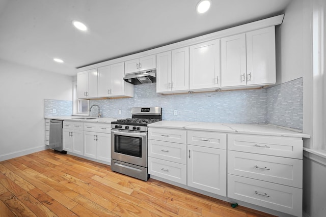
[[[220,40],[189,47],[189,89],[220,87]]]

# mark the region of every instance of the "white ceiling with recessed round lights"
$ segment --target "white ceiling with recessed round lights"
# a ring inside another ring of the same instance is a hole
[[[0,59],[76,75],[78,67],[279,15],[291,2],[212,0],[200,15],[198,1],[0,0]]]

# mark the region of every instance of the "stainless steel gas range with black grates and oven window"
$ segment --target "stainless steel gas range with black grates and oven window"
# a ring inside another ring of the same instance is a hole
[[[133,107],[131,115],[111,122],[111,169],[147,181],[147,125],[162,119],[162,108]]]

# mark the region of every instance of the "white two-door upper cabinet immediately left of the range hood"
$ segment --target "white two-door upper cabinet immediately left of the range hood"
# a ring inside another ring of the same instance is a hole
[[[123,77],[124,63],[98,68],[98,97],[133,97],[133,85]]]

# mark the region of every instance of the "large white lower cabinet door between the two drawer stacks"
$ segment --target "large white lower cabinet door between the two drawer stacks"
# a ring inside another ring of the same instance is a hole
[[[188,186],[226,196],[226,150],[188,145]]]

